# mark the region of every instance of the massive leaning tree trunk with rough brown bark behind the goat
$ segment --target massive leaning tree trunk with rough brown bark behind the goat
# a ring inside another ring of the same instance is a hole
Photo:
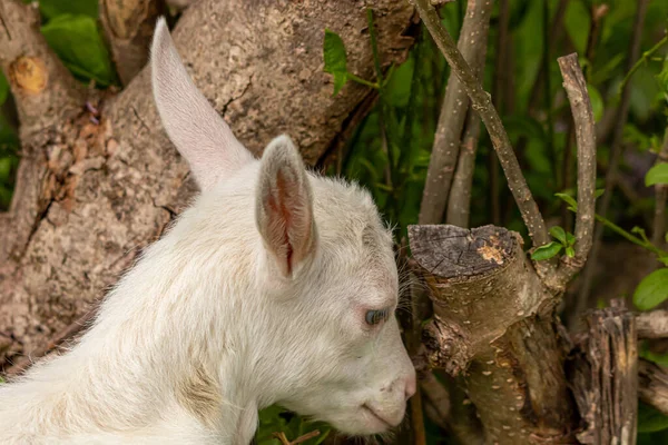
[[[322,71],[330,28],[346,43],[348,69],[372,78],[365,4],[376,14],[383,63],[400,61],[412,42],[402,33],[413,8],[394,0],[202,0],[184,12],[174,39],[195,83],[242,142],[261,154],[287,132],[313,165],[370,95],[351,83],[333,98]],[[20,52],[0,48],[4,58]],[[7,70],[12,60],[2,63]],[[39,206],[19,215],[30,227],[27,241],[0,257],[3,359],[36,350],[85,314],[195,192],[161,130],[149,80],[145,68],[105,101],[100,125],[89,121],[80,96],[69,120],[55,109],[38,136],[23,138],[23,150],[30,148],[48,175],[29,185]]]

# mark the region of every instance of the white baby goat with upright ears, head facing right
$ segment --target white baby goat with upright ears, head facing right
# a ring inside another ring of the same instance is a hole
[[[203,192],[71,350],[0,386],[0,443],[245,445],[274,403],[350,434],[397,425],[415,375],[369,194],[308,174],[286,136],[254,159],[164,20],[151,70]]]

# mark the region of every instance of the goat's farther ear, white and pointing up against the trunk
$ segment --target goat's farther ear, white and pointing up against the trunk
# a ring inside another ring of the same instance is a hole
[[[199,187],[208,189],[253,159],[188,76],[158,19],[150,50],[153,92],[163,126],[186,158]]]

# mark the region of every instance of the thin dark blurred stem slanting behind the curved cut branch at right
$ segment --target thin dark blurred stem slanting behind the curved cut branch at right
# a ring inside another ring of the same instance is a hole
[[[649,0],[639,0],[638,9],[636,11],[636,19],[633,21],[633,32],[631,36],[630,49],[629,49],[629,58],[627,59],[627,71],[630,71],[638,60],[638,56],[640,53],[640,41],[642,36],[642,27],[645,24],[645,14],[647,12],[647,6]],[[615,182],[617,178],[617,170],[619,168],[619,160],[621,158],[622,151],[622,142],[623,142],[623,128],[626,127],[626,122],[628,119],[629,106],[631,98],[631,89],[629,88],[629,83],[626,83],[621,93],[621,100],[619,103],[619,110],[616,119],[615,135],[612,138],[612,146],[610,148],[610,162],[609,168],[606,174],[606,188],[603,191],[603,196],[600,199],[600,205],[598,208],[598,214],[602,217],[607,217],[608,208],[610,207],[610,202],[612,200],[612,191],[615,188]],[[596,227],[596,231],[593,235],[593,245],[591,247],[591,253],[589,257],[589,261],[584,267],[583,278],[582,278],[582,287],[580,289],[580,295],[578,296],[578,304],[576,306],[576,310],[573,313],[573,317],[571,322],[574,322],[578,314],[581,314],[584,308],[589,306],[589,296],[591,294],[591,286],[593,284],[593,273],[595,266],[598,258],[598,253],[600,249],[601,238],[603,236],[603,225],[599,224]]]

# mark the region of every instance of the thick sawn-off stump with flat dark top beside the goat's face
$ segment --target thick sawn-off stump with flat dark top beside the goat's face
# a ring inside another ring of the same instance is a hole
[[[434,367],[463,374],[488,444],[576,443],[556,298],[494,226],[411,226],[411,251],[434,304],[424,329]]]

